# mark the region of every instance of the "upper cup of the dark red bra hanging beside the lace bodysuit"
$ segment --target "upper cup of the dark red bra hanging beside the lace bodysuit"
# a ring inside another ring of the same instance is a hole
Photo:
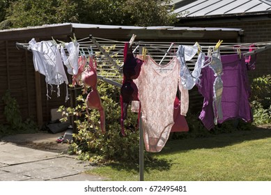
[[[132,55],[127,55],[127,59],[123,65],[123,75],[129,79],[137,79],[141,71],[141,65],[143,61],[140,59],[134,58]]]

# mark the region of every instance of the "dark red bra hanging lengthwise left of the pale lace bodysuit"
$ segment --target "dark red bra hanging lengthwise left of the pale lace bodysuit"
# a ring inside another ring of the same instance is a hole
[[[127,107],[132,101],[139,101],[138,88],[133,79],[139,77],[141,65],[144,61],[137,59],[132,54],[132,47],[125,42],[123,51],[123,85],[121,86],[121,134],[125,136],[124,120],[127,117]],[[140,113],[139,113],[140,114]]]

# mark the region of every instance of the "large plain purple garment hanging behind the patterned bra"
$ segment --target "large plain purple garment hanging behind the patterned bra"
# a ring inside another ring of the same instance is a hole
[[[245,58],[239,59],[238,54],[221,56],[223,64],[223,92],[222,112],[223,119],[218,123],[234,118],[242,118],[246,122],[252,120],[251,107],[249,105],[250,86],[247,77],[247,66]],[[212,69],[207,66],[201,69],[201,82],[199,93],[203,95],[203,108],[199,119],[208,129],[215,127],[214,111],[212,108],[213,87],[215,75]]]

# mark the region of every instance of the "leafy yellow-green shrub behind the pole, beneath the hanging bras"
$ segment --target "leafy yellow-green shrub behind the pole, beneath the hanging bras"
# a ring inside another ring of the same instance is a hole
[[[98,81],[98,91],[102,99],[106,118],[105,134],[100,130],[100,114],[97,110],[89,110],[90,120],[86,116],[86,95],[79,95],[76,108],[60,107],[63,120],[68,116],[78,116],[75,120],[78,133],[73,134],[74,140],[70,144],[70,154],[77,154],[79,159],[92,162],[108,161],[139,161],[139,131],[137,130],[137,114],[128,109],[125,120],[126,136],[121,135],[121,107],[119,103],[120,88],[103,81]],[[146,158],[149,156],[146,154]]]

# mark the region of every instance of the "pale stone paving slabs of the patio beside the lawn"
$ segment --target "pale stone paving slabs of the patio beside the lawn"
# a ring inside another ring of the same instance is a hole
[[[0,140],[0,181],[107,180],[84,173],[89,162],[67,155],[68,143],[56,143],[56,134],[19,134]]]

